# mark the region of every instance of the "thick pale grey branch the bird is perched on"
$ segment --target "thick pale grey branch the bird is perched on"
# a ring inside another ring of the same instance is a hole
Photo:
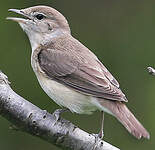
[[[7,76],[0,72],[0,114],[18,130],[37,136],[51,144],[68,150],[119,150],[100,140],[71,122],[41,110],[16,94]]]

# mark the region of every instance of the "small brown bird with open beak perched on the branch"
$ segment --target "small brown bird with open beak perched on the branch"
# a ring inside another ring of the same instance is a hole
[[[32,68],[51,99],[78,114],[91,114],[95,110],[107,112],[136,138],[149,139],[149,133],[126,107],[127,99],[117,80],[71,35],[61,13],[48,6],[9,11],[24,16],[8,19],[18,22],[28,35]],[[103,137],[103,121],[99,136]]]

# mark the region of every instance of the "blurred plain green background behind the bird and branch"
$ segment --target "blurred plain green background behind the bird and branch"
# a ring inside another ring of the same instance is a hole
[[[129,99],[128,107],[150,132],[150,140],[137,140],[112,116],[106,114],[104,139],[121,150],[155,149],[155,77],[146,71],[155,62],[154,0],[1,0],[0,69],[21,96],[49,112],[59,108],[40,88],[30,65],[31,47],[15,22],[6,20],[9,8],[34,5],[56,8],[68,19],[72,35],[91,49],[116,77]],[[100,113],[64,118],[97,133]],[[9,129],[0,117],[0,150],[58,150],[26,133]]]

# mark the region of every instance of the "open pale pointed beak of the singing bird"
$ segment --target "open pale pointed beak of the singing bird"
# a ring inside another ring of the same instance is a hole
[[[31,18],[30,18],[27,14],[25,14],[24,11],[22,11],[22,10],[19,10],[19,9],[9,9],[8,11],[15,12],[15,13],[20,14],[20,15],[22,15],[23,17],[26,18],[26,19],[25,19],[25,18],[7,17],[6,19],[8,19],[8,20],[13,20],[13,21],[16,21],[16,22],[18,22],[18,23],[25,23],[27,20],[30,20],[30,19],[31,19]]]

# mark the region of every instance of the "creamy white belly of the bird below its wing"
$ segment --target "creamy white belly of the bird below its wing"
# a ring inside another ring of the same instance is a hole
[[[96,98],[76,92],[41,74],[37,74],[37,78],[46,94],[58,105],[79,114],[91,114],[99,109]]]

